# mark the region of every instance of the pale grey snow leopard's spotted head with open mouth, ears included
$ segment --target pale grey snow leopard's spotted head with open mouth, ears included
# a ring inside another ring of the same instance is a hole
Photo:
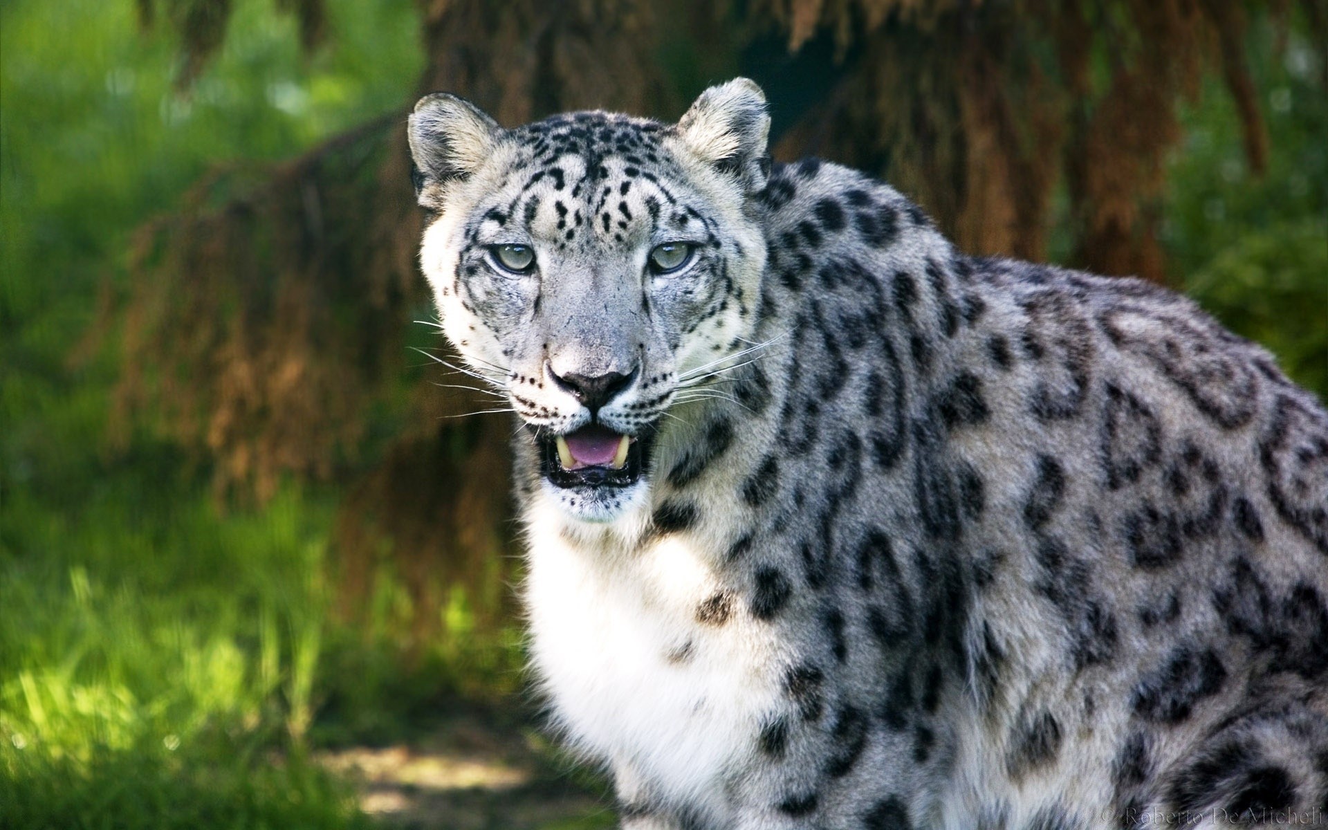
[[[444,331],[525,422],[570,517],[643,503],[657,424],[750,345],[768,130],[745,78],[676,125],[594,112],[505,130],[454,96],[416,105]]]

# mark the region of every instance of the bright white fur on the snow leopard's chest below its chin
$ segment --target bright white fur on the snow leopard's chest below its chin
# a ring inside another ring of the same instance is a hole
[[[620,790],[721,810],[777,704],[773,637],[738,607],[724,625],[697,618],[721,586],[684,540],[582,546],[547,518],[531,523],[526,603],[560,725],[614,766]]]

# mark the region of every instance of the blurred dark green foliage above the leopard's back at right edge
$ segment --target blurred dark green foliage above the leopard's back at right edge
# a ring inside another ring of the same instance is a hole
[[[1279,44],[1260,27],[1248,49],[1268,169],[1248,169],[1235,106],[1210,78],[1183,114],[1162,242],[1177,287],[1328,401],[1325,57],[1296,29]]]

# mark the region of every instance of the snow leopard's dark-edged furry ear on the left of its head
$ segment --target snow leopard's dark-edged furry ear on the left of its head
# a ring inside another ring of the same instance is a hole
[[[478,106],[445,92],[420,98],[406,126],[416,197],[438,210],[444,189],[493,155],[503,129]]]

